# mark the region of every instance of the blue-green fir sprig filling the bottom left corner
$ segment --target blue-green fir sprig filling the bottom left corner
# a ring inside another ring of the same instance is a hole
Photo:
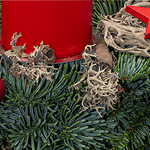
[[[56,134],[52,130],[51,113],[53,112],[39,105],[14,107],[7,113],[4,109],[0,117],[4,122],[2,125],[7,127],[10,149],[41,150],[45,143],[51,147],[55,143],[53,136]]]

